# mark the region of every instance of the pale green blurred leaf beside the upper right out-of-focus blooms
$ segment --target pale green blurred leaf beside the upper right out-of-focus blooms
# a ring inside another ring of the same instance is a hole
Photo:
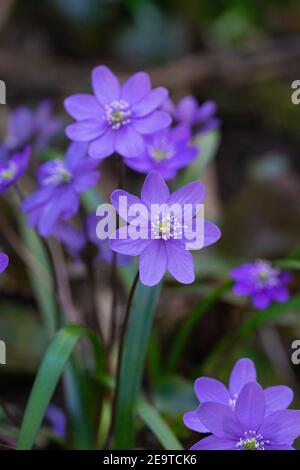
[[[200,178],[216,156],[220,141],[221,134],[218,130],[200,135],[194,139],[193,143],[199,148],[198,157],[182,172],[178,178],[178,186],[183,186]]]

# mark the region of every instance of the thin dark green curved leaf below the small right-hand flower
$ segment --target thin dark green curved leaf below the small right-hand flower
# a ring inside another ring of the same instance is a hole
[[[178,333],[175,336],[173,344],[171,346],[171,352],[167,364],[167,372],[172,373],[176,370],[180,364],[180,360],[183,357],[184,349],[188,343],[190,335],[195,330],[197,323],[202,319],[205,313],[212,308],[212,306],[222,298],[225,292],[227,292],[232,286],[232,281],[226,281],[221,286],[216,287],[205,299],[199,302],[191,312],[186,316],[183,324],[178,329]]]

